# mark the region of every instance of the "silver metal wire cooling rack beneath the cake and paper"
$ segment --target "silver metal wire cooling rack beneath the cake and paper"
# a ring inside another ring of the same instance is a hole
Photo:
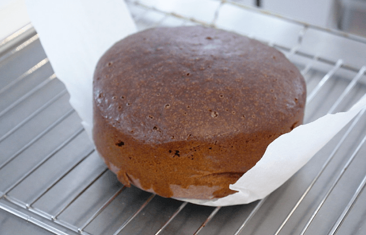
[[[306,78],[306,123],[345,111],[366,93],[364,38],[237,2],[127,4],[139,30],[203,24],[281,50]],[[204,207],[116,180],[69,105],[31,25],[1,42],[0,71],[0,234],[366,233],[364,110],[266,198]]]

